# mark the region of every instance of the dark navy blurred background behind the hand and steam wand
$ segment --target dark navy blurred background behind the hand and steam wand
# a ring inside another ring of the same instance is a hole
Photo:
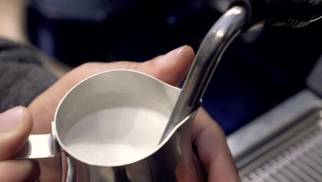
[[[224,0],[30,0],[28,39],[58,64],[146,61],[191,45],[226,10]],[[322,53],[322,20],[305,28],[256,26],[230,45],[203,99],[226,134],[306,87]]]

